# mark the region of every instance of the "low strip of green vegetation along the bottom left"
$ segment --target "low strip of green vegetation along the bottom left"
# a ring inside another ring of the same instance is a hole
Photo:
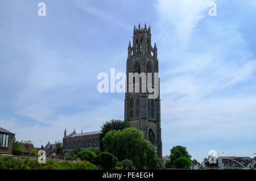
[[[61,163],[48,159],[46,164],[38,163],[37,159],[13,157],[0,158],[0,170],[97,170],[98,167],[87,161]]]

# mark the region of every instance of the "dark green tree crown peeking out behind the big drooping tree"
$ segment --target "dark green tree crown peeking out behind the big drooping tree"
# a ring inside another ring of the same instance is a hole
[[[129,128],[130,125],[127,124],[125,121],[122,120],[116,120],[116,119],[112,119],[110,121],[106,121],[106,123],[104,123],[101,126],[101,133],[100,133],[100,150],[101,151],[105,151],[103,144],[102,144],[102,138],[105,136],[106,133],[108,133],[110,130],[123,130],[125,128]]]

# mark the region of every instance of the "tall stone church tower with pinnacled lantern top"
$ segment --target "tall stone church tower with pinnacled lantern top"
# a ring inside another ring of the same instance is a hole
[[[129,42],[128,57],[126,61],[126,85],[129,85],[129,73],[152,73],[152,85],[154,85],[154,73],[158,73],[158,49],[156,44],[151,46],[151,29],[134,26],[133,47]],[[160,127],[160,89],[158,85],[158,98],[148,99],[148,90],[142,92],[142,78],[139,79],[139,92],[129,92],[126,86],[125,93],[125,121],[144,134],[144,139],[155,145],[157,155],[162,159],[162,139]],[[135,82],[134,82],[135,83]]]

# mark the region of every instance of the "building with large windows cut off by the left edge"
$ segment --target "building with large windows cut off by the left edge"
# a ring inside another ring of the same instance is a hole
[[[13,154],[14,133],[0,128],[0,154]]]

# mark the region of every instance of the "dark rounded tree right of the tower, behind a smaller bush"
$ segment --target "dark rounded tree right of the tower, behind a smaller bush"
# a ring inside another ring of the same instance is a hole
[[[170,164],[171,165],[175,165],[176,167],[176,159],[180,158],[180,157],[187,157],[189,160],[191,160],[191,155],[188,154],[187,148],[185,148],[185,146],[174,146],[172,147],[172,149],[170,150],[171,154],[170,154]]]

